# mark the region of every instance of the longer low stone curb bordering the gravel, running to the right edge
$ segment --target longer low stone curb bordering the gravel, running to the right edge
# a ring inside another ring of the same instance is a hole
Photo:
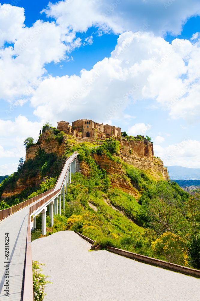
[[[109,246],[106,246],[106,249],[108,251],[112,252],[112,253],[122,255],[122,256],[126,256],[126,257],[131,258],[131,259],[136,259],[136,260],[141,261],[141,262],[146,262],[146,263],[150,263],[150,264],[153,264],[153,265],[157,265],[161,268],[168,268],[168,269],[172,270],[173,272],[179,272],[179,273],[182,273],[182,274],[187,274],[187,275],[190,275],[190,276],[200,278],[200,271],[196,270],[196,269],[193,269],[193,268],[188,268],[186,266],[177,265],[175,263],[163,261],[163,260],[160,260],[160,259],[155,259],[155,258],[152,258],[152,257],[132,253],[132,252],[129,252],[129,251],[125,251],[125,250],[121,250],[121,249],[117,249],[117,248],[113,248],[113,247],[109,247]]]

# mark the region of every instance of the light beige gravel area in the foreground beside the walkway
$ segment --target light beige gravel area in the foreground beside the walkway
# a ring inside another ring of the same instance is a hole
[[[134,261],[91,244],[73,231],[32,242],[32,259],[51,276],[44,300],[199,301],[200,279]]]

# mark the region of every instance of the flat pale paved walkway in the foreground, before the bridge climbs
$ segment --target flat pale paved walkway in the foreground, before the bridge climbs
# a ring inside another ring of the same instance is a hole
[[[26,235],[29,206],[0,222],[0,300],[21,300],[22,278],[25,262]],[[4,284],[7,260],[4,254],[4,237],[9,233],[9,297],[5,296]]]

